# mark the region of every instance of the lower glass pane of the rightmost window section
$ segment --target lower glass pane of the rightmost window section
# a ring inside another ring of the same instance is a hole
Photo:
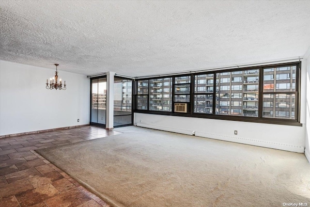
[[[264,94],[263,117],[295,119],[295,94]]]

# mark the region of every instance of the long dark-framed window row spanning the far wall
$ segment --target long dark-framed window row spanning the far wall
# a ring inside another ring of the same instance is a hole
[[[299,124],[300,63],[137,80],[138,112]],[[172,106],[186,104],[175,113]]]

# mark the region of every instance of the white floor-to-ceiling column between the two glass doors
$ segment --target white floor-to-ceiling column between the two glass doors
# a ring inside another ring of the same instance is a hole
[[[106,129],[113,129],[114,115],[114,72],[107,72],[107,123]]]

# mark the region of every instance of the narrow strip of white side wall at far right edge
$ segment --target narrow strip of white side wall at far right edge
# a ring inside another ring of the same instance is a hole
[[[306,74],[306,138],[305,138],[305,155],[310,162],[310,48],[306,53],[307,58],[307,74]]]

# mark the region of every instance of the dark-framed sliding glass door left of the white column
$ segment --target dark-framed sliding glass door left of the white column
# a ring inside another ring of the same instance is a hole
[[[107,78],[91,79],[91,121],[90,124],[106,126]]]

